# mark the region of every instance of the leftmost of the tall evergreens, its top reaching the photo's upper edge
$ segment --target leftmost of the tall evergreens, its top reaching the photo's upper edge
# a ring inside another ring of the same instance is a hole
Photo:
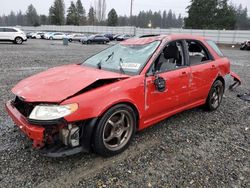
[[[54,5],[49,9],[50,23],[54,25],[64,25],[65,5],[63,0],[55,0]]]

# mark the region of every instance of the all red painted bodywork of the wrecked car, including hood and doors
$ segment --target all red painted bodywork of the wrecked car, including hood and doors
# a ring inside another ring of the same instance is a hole
[[[167,82],[167,90],[159,92],[155,89],[155,76],[147,75],[147,71],[167,42],[182,39],[201,42],[214,61],[160,73]],[[203,105],[213,82],[218,77],[223,79],[230,74],[229,60],[220,57],[203,37],[169,35],[128,39],[122,44],[147,44],[156,40],[162,41],[161,45],[139,75],[128,76],[82,65],[67,65],[27,78],[17,84],[12,92],[26,102],[61,105],[77,103],[79,109],[64,118],[68,123],[100,117],[110,107],[128,103],[138,112],[138,130],[141,130],[173,114]],[[100,79],[119,81],[75,95]],[[43,128],[29,124],[10,102],[6,108],[15,123],[24,127],[22,130],[35,143],[43,143]]]

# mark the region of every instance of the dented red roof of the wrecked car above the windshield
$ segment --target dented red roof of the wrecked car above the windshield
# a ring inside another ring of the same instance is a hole
[[[170,34],[170,35],[159,35],[159,36],[152,36],[152,37],[144,37],[144,38],[131,38],[125,41],[122,41],[121,44],[124,45],[143,45],[148,44],[155,41],[163,41],[163,40],[204,40],[204,37],[201,36],[194,36],[190,34]]]

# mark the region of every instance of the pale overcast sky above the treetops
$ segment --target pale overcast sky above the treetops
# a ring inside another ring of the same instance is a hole
[[[66,8],[69,6],[71,0],[64,0]],[[74,0],[76,1],[76,0]],[[83,6],[88,11],[90,5],[94,6],[95,0],[82,0]],[[208,0],[209,1],[209,0]],[[231,0],[234,4],[243,7],[247,6],[250,10],[250,0]],[[11,10],[15,12],[18,10],[26,11],[29,4],[33,4],[39,14],[48,14],[49,7],[54,0],[0,0],[0,15],[9,14]],[[186,15],[185,8],[189,5],[190,0],[134,0],[134,14],[140,10],[169,10],[172,9],[175,13]],[[130,0],[106,0],[107,12],[111,8],[115,8],[119,15],[129,15]],[[248,14],[250,11],[248,11]],[[250,15],[250,14],[249,14]]]

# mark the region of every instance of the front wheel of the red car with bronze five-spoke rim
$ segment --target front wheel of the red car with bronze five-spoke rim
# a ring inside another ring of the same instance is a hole
[[[93,150],[110,157],[126,150],[135,134],[134,110],[125,104],[110,108],[98,121],[93,135]]]

